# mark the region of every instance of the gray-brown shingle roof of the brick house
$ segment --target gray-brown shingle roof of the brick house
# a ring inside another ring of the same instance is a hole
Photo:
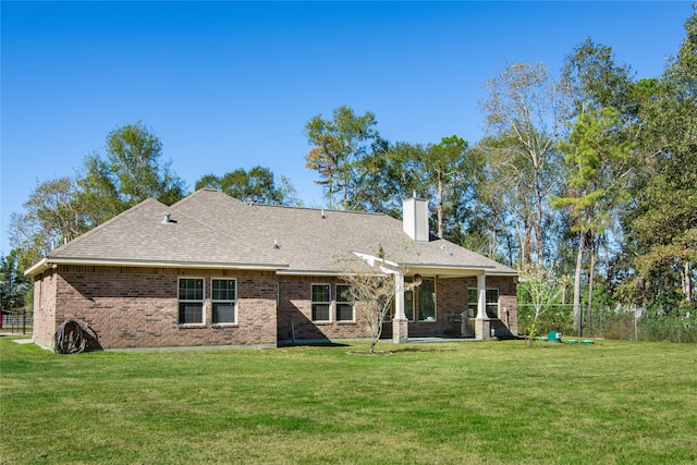
[[[170,212],[171,222],[162,223]],[[515,274],[509,267],[448,241],[415,243],[402,222],[379,213],[245,204],[200,189],[167,207],[145,200],[51,252],[47,260],[120,265],[268,268],[335,273],[338,258],[384,256],[409,269]]]

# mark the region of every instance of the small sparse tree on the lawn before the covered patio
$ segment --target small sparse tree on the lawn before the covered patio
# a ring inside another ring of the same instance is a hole
[[[383,254],[378,260],[366,262],[362,259],[348,259],[351,266],[340,278],[348,285],[344,298],[354,302],[354,308],[362,315],[370,331],[370,354],[382,335],[382,323],[392,311],[392,301],[396,291],[394,277],[400,270],[387,267]]]

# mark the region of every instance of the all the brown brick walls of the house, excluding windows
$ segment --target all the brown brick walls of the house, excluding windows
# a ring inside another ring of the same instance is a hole
[[[178,325],[181,277],[205,279],[204,325]],[[210,280],[221,277],[237,280],[234,326],[211,325]],[[311,321],[311,283],[331,285],[330,322]],[[277,278],[261,271],[63,265],[35,281],[34,340],[50,347],[56,329],[69,319],[76,320],[102,348],[277,344],[293,338],[291,328],[296,340],[368,338],[359,311],[355,310],[355,321],[335,320],[335,278]],[[467,289],[476,285],[476,278],[437,279],[436,321],[409,322],[409,335],[458,334],[460,323],[452,321],[453,316],[467,308]],[[505,322],[503,308],[508,307],[510,328],[516,333],[515,280],[488,277],[487,287],[499,289],[500,318]],[[390,327],[386,325],[386,336]]]

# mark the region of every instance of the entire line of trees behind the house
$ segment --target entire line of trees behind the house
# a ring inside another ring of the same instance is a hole
[[[570,283],[561,301],[573,305],[576,330],[583,306],[592,321],[600,302],[694,332],[697,14],[685,32],[658,78],[637,78],[590,38],[559,73],[509,63],[484,85],[486,130],[473,144],[457,135],[387,140],[372,112],[345,106],[315,115],[305,125],[305,166],[327,208],[400,217],[402,198],[416,194],[431,200],[439,236],[521,270],[553,270],[547,276]],[[26,211],[13,215],[19,268],[148,197],[172,204],[186,194],[143,123],[114,130],[105,151],[75,175],[39,184]],[[195,183],[201,187],[302,204],[288,179],[264,167],[211,173]]]

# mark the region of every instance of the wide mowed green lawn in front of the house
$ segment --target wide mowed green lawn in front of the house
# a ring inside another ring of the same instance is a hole
[[[697,345],[54,355],[0,338],[0,463],[697,463]]]

